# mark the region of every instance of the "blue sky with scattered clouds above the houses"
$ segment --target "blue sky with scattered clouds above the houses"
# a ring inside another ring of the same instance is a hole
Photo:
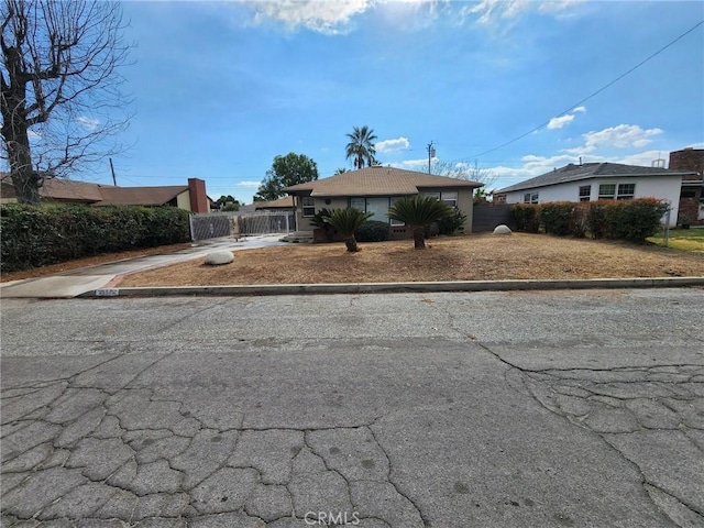
[[[320,177],[369,125],[377,158],[476,165],[501,188],[570,162],[704,147],[704,20],[675,1],[127,1],[135,116],[119,185],[206,180],[250,202],[274,156]],[[541,124],[539,130],[528,133]],[[527,134],[528,133],[528,134]],[[524,134],[525,138],[496,148]],[[491,151],[491,152],[487,152]],[[86,180],[111,183],[109,165]]]

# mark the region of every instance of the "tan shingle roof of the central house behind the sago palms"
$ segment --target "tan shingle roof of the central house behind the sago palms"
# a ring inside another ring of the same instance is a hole
[[[424,188],[474,189],[483,185],[479,182],[375,165],[316,182],[293,185],[286,187],[284,191],[294,195],[310,191],[310,196],[407,196],[417,195]]]

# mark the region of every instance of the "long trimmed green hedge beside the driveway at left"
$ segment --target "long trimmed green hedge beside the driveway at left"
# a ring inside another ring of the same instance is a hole
[[[188,211],[173,207],[0,206],[0,271],[190,240]]]

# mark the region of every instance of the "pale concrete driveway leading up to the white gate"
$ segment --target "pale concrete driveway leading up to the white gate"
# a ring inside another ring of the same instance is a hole
[[[0,285],[0,298],[70,298],[87,292],[100,289],[110,284],[118,275],[141,272],[152,267],[167,266],[177,262],[198,258],[220,250],[246,250],[283,245],[280,234],[233,239],[223,237],[194,243],[191,248],[161,255],[141,256],[123,261],[99,264],[97,266],[72,270],[38,278],[14,280]]]

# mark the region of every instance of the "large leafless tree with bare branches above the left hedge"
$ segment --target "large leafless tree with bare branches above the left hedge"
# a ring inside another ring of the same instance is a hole
[[[119,3],[0,0],[4,162],[18,201],[38,204],[45,177],[122,151],[131,101],[119,73],[130,45]]]

